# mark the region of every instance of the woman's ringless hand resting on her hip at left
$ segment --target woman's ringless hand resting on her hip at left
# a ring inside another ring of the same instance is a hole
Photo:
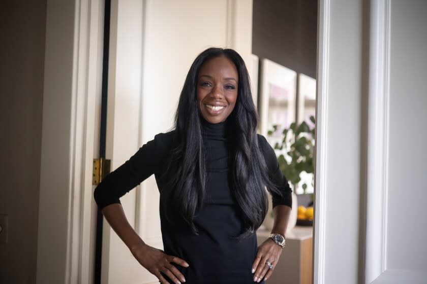
[[[170,284],[160,272],[166,274],[176,284],[186,281],[184,275],[171,264],[173,262],[180,266],[188,267],[188,263],[184,260],[169,256],[164,251],[147,244],[132,247],[131,253],[145,269],[156,275],[161,283]]]

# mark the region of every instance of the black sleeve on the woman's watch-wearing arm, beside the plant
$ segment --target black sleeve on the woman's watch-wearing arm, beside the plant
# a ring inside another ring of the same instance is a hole
[[[288,180],[283,175],[279,168],[275,150],[268,143],[264,136],[258,134],[258,143],[261,153],[264,155],[265,163],[267,165],[268,176],[271,181],[282,192],[282,195],[273,192],[267,188],[271,194],[273,208],[276,205],[283,204],[292,207],[292,189],[289,186]]]

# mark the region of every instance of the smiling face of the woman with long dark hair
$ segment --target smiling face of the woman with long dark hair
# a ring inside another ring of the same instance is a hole
[[[214,57],[203,63],[197,76],[197,102],[200,114],[210,123],[225,121],[237,100],[238,75],[227,57]]]

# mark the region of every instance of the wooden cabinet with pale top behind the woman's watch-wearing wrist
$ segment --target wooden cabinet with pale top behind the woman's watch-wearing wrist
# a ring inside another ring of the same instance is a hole
[[[268,238],[270,231],[257,231],[258,245]],[[313,227],[295,226],[286,233],[286,245],[268,284],[311,284],[313,260]]]

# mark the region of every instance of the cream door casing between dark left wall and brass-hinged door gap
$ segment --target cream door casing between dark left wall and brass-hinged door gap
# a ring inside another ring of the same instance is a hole
[[[37,283],[93,281],[103,12],[100,0],[47,2]]]

